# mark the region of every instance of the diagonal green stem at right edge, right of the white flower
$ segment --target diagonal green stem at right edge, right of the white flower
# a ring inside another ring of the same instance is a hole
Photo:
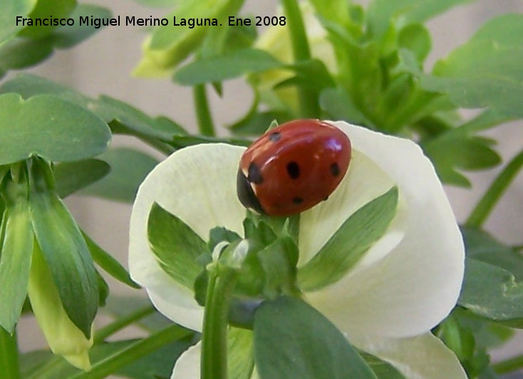
[[[467,227],[481,227],[490,212],[494,209],[497,201],[502,197],[502,194],[507,190],[509,185],[516,177],[519,170],[523,166],[523,150],[519,152],[516,157],[509,162],[498,177],[492,182],[490,188],[485,192],[480,202],[477,203],[475,209],[465,222]]]

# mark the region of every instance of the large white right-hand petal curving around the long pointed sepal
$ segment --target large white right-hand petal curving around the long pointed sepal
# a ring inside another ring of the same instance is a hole
[[[307,300],[349,339],[356,334],[425,333],[455,305],[464,269],[461,234],[442,185],[414,142],[343,122],[335,125],[351,137],[354,150],[369,157],[398,185],[401,202],[406,203],[400,204],[398,224],[406,223],[405,236],[398,242],[393,235],[380,246],[380,259],[366,266],[360,262],[338,283],[307,294]],[[365,180],[371,181],[372,191],[373,178],[369,175]],[[405,209],[408,219],[402,213]],[[398,231],[394,234],[399,237]]]

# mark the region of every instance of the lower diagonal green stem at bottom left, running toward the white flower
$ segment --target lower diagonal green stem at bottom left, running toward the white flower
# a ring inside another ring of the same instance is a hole
[[[144,355],[157,351],[169,343],[180,341],[182,338],[190,336],[192,331],[181,328],[177,325],[168,326],[158,331],[152,336],[133,343],[133,345],[124,348],[113,355],[109,355],[104,360],[95,363],[88,373],[78,373],[69,377],[69,379],[101,379],[107,378],[119,368],[135,362]]]

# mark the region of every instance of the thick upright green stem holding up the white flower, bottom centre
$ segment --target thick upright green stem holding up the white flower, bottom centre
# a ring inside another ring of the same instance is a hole
[[[202,332],[202,379],[227,379],[227,316],[238,273],[227,266],[209,268]]]

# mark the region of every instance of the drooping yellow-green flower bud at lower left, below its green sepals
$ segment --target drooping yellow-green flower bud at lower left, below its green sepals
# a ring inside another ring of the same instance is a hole
[[[35,243],[29,274],[29,300],[38,325],[54,354],[63,355],[68,363],[90,370],[88,350],[93,334],[87,339],[68,318],[60,300],[53,276],[38,244]]]

